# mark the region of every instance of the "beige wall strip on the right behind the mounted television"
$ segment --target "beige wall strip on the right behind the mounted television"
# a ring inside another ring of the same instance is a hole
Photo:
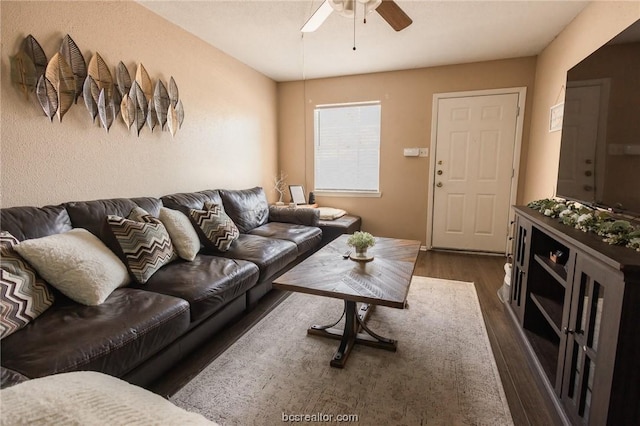
[[[567,71],[640,19],[640,2],[593,2],[539,55],[522,201],[555,195],[561,132],[549,133],[549,108],[564,99]]]

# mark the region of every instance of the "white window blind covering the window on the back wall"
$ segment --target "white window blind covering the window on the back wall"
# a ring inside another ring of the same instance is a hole
[[[315,109],[315,190],[379,191],[379,102]]]

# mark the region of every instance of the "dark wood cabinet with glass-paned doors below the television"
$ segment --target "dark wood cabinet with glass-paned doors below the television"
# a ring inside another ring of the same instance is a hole
[[[510,311],[561,414],[640,424],[640,253],[515,212]]]

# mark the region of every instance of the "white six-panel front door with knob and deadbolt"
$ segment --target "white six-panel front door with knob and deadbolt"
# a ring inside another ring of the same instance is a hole
[[[506,251],[518,96],[438,99],[432,247]]]

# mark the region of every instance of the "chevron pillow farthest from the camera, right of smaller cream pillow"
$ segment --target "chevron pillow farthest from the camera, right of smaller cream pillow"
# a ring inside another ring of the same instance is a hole
[[[190,209],[189,216],[206,238],[206,245],[218,251],[227,251],[240,232],[219,204],[205,203],[206,210]]]

